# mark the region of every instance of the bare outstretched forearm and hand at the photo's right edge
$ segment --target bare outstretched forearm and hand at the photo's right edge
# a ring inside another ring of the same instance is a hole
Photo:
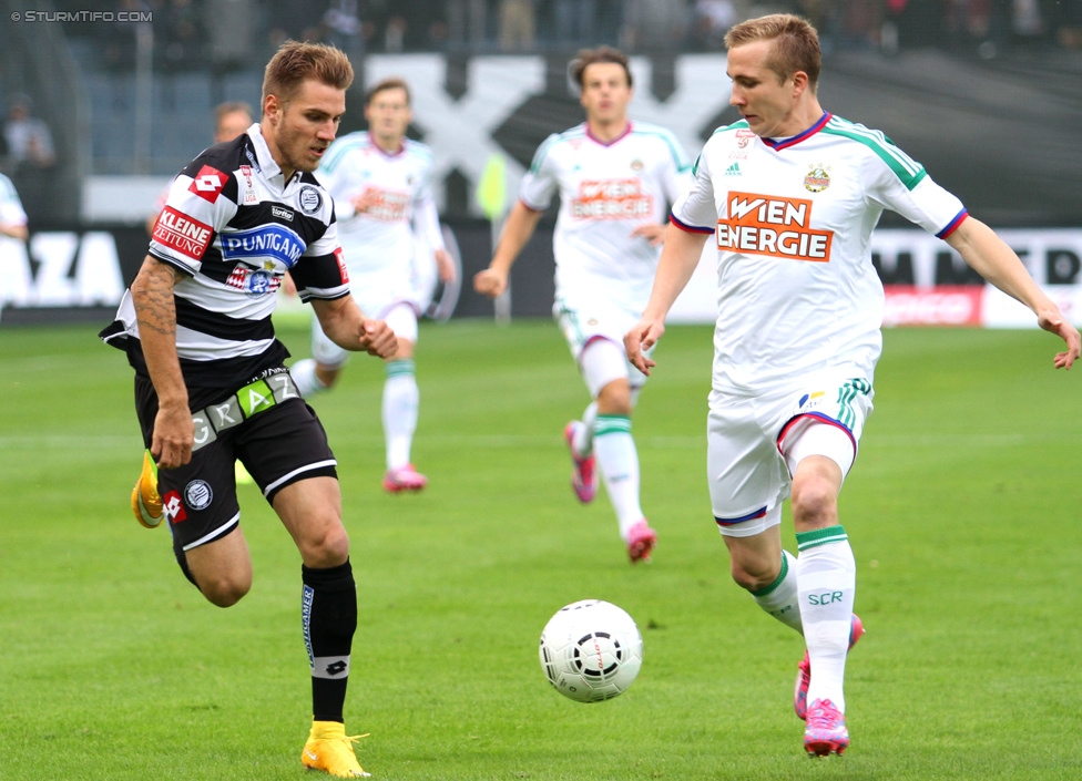
[[[946,240],[973,270],[1029,307],[1037,315],[1037,322],[1041,328],[1066,342],[1068,349],[1055,356],[1055,367],[1070,369],[1079,357],[1079,331],[1044,295],[1014,250],[990,227],[973,217],[962,220]]]

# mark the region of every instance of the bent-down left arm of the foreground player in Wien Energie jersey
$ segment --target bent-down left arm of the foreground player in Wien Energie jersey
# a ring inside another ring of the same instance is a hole
[[[695,273],[707,235],[684,230],[672,223],[668,225],[665,233],[665,247],[661,250],[657,273],[654,275],[654,287],[650,291],[650,300],[643,310],[642,319],[624,336],[627,360],[644,374],[649,374],[655,363],[646,358],[643,351],[656,345],[665,332],[665,317]]]

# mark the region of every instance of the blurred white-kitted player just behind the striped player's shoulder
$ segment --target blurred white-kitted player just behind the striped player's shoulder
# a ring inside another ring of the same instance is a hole
[[[391,493],[419,491],[428,479],[410,462],[420,404],[414,361],[420,302],[411,279],[417,240],[433,248],[445,282],[453,278],[455,265],[443,247],[432,199],[432,153],[406,137],[412,119],[408,84],[391,78],[372,85],[365,119],[368,131],[335,142],[317,176],[335,198],[354,298],[364,311],[386,320],[398,337],[398,351],[385,362],[382,485]],[[306,398],[330,388],[349,359],[316,320],[312,354],[290,369]]]

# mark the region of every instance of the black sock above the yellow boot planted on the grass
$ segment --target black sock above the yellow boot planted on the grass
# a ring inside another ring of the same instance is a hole
[[[300,565],[300,620],[312,665],[312,712],[316,721],[344,721],[349,649],[357,629],[357,585],[349,559],[337,567]]]

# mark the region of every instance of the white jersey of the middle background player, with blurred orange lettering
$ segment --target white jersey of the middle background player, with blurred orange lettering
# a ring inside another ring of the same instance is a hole
[[[660,225],[691,186],[690,161],[664,127],[630,123],[608,143],[585,123],[549,136],[522,179],[519,198],[542,212],[560,194],[552,248],[557,297],[575,308],[598,296],[641,312],[660,248],[632,235]],[[583,300],[585,299],[585,300]]]

